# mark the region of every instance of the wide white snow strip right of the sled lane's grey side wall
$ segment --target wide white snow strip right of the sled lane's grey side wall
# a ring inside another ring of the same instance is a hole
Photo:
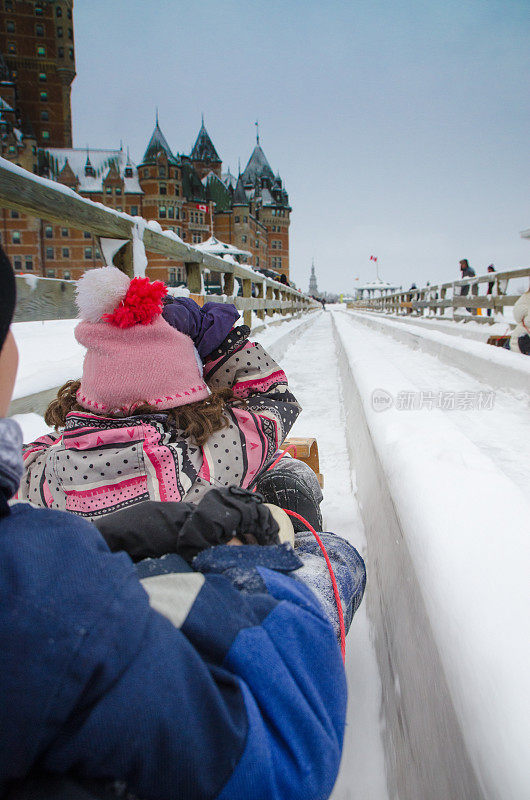
[[[470,407],[491,387],[334,316],[479,780],[487,797],[528,797],[528,397]],[[441,391],[464,404],[436,407]]]

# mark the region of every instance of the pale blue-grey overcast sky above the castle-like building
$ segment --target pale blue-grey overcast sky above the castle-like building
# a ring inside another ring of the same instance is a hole
[[[261,144],[289,192],[291,277],[347,292],[530,265],[530,0],[76,0],[74,145],[154,127],[223,168]]]

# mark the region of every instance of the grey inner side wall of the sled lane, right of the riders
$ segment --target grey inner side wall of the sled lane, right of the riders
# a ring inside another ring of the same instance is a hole
[[[390,797],[482,798],[433,638],[421,589],[348,355],[333,317],[348,448],[368,542],[368,614],[383,686]]]

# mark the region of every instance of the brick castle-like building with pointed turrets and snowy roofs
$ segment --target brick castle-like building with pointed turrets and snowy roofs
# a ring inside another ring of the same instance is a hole
[[[289,277],[289,196],[259,134],[237,178],[223,171],[204,118],[189,155],[172,151],[158,114],[138,164],[123,147],[71,146],[72,12],[73,0],[0,0],[1,155],[116,211],[155,220],[190,244],[215,236],[248,252],[251,266]],[[88,231],[5,208],[0,215],[1,241],[19,272],[77,279],[103,264]],[[148,259],[151,277],[184,279],[182,263],[157,253]]]

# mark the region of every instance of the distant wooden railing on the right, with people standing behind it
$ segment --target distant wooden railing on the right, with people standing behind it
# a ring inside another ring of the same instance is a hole
[[[452,283],[441,283],[437,286],[424,286],[420,289],[405,289],[390,292],[381,297],[355,300],[352,308],[369,311],[383,311],[387,314],[415,314],[416,316],[444,316],[447,309],[452,310],[452,318],[456,321],[473,319],[475,322],[493,323],[495,312],[503,312],[506,306],[513,306],[519,299],[521,291],[510,294],[515,279],[528,278],[530,267],[513,269],[506,272],[487,272],[474,278],[465,278]],[[512,284],[510,286],[510,281]],[[488,284],[493,283],[493,290],[487,294]],[[469,294],[461,295],[461,287],[469,286]],[[484,288],[481,294],[480,289]],[[526,287],[527,288],[527,287]],[[525,289],[523,289],[525,291]],[[471,309],[472,317],[464,315],[461,309]],[[477,314],[492,309],[492,316]],[[446,317],[449,318],[449,317]]]

